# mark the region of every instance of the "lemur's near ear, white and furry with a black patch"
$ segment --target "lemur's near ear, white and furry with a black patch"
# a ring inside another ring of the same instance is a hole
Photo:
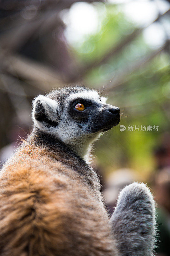
[[[55,100],[39,95],[33,100],[32,118],[41,129],[57,126],[58,103]]]

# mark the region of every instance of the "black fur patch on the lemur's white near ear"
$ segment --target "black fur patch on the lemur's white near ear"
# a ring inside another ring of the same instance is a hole
[[[37,100],[36,102],[34,117],[39,122],[44,121],[46,123],[46,127],[49,127],[49,126],[56,127],[58,125],[57,122],[53,122],[48,118],[47,114],[45,113],[45,109],[41,103],[41,100]]]

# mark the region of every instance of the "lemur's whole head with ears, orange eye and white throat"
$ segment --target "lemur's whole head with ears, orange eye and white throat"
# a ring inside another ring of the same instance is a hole
[[[89,145],[120,121],[120,109],[85,87],[66,87],[33,101],[34,125],[84,157]]]

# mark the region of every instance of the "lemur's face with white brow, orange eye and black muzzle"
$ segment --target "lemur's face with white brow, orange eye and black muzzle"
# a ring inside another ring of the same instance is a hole
[[[66,111],[85,133],[106,132],[119,123],[120,109],[105,102],[95,91],[77,92],[68,98]]]

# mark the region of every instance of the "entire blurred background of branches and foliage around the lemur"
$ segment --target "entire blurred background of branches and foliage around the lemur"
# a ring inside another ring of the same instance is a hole
[[[156,253],[169,256],[170,1],[1,0],[1,165],[31,130],[33,98],[70,84],[120,107],[121,122],[94,145],[92,164],[110,213],[126,184],[148,183]]]

